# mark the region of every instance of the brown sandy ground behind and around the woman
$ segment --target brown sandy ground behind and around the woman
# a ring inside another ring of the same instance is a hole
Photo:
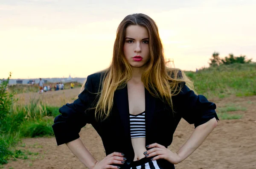
[[[64,101],[72,101],[79,89],[69,89],[58,92],[48,92],[42,97],[47,103],[60,105]],[[39,94],[22,94],[23,103],[29,102]],[[53,103],[53,100],[59,101]],[[240,114],[239,120],[221,120],[218,126],[207,137],[204,143],[186,160],[175,165],[176,169],[256,169],[256,96],[227,97],[212,99],[218,107],[233,103],[236,106],[246,107],[246,111],[230,112]],[[173,143],[169,146],[177,151],[185,143],[194,129],[185,120],[181,120],[174,134]],[[90,152],[101,160],[105,157],[104,148],[99,135],[92,126],[87,125],[80,132],[80,137]],[[86,167],[70,152],[66,145],[57,146],[54,137],[23,139],[25,147],[17,147],[38,155],[29,155],[29,159],[9,161],[4,165],[6,169],[85,169]]]

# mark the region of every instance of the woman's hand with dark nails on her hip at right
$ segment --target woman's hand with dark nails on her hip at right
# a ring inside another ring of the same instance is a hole
[[[172,164],[177,164],[182,161],[181,157],[177,153],[171,152],[171,150],[166,149],[165,146],[162,146],[160,144],[154,143],[147,146],[149,149],[148,151],[144,152],[145,157],[151,158],[151,160],[158,160],[160,158],[163,158],[165,160],[168,160]]]

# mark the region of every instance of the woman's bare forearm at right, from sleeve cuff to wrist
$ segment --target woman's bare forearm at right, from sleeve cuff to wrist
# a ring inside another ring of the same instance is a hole
[[[189,155],[191,155],[201,144],[204,142],[206,137],[212,132],[212,130],[217,126],[216,118],[212,118],[208,122],[197,126],[194,132],[190,135],[189,139],[180,149],[177,151],[177,154],[180,156],[180,160],[183,161]],[[181,162],[180,161],[180,162]]]

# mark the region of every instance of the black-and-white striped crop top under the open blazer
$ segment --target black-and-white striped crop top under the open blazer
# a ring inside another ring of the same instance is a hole
[[[145,112],[138,115],[130,114],[131,138],[146,137]]]

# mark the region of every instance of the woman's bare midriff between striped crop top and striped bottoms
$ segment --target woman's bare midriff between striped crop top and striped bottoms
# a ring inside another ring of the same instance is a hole
[[[145,137],[131,138],[131,143],[134,149],[134,161],[145,158],[145,155],[143,154],[147,151],[145,140]]]

